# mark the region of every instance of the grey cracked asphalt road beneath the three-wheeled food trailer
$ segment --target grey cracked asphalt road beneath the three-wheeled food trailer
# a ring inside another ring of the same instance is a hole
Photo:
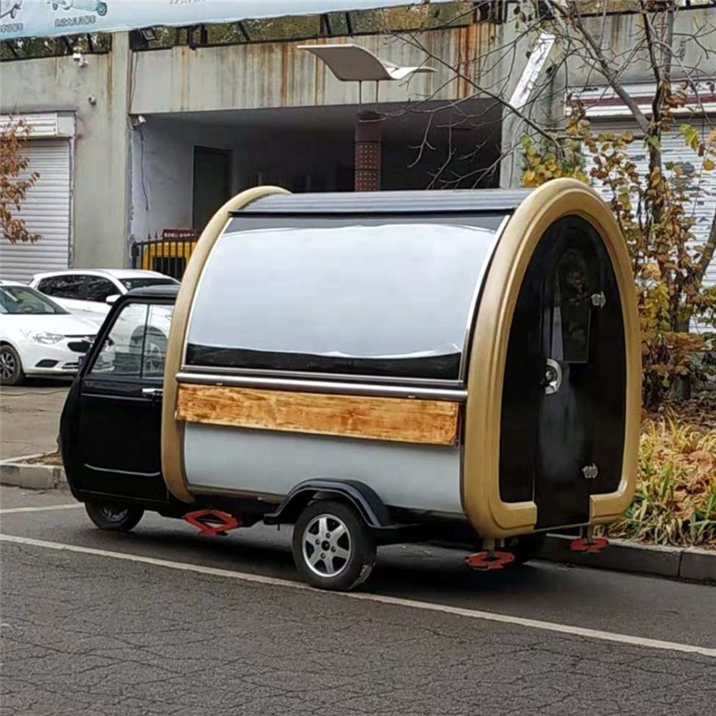
[[[206,538],[145,516],[102,533],[66,493],[0,499],[2,714],[714,711],[714,587],[473,574],[411,546],[383,550],[361,592],[328,594],[295,582],[287,530]]]

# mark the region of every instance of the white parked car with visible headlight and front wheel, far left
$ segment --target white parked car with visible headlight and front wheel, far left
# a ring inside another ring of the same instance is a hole
[[[97,328],[46,295],[0,281],[0,385],[25,376],[72,375],[90,350]]]

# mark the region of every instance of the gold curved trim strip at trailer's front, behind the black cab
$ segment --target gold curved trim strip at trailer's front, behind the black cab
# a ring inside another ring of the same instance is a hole
[[[178,383],[176,374],[182,368],[183,348],[186,340],[186,329],[194,303],[194,295],[199,286],[201,274],[211,249],[223,233],[230,214],[236,209],[243,209],[261,197],[270,194],[288,194],[286,189],[277,186],[259,186],[237,194],[226,201],[221,209],[211,217],[199,241],[192,252],[192,258],[184,271],[182,286],[176,297],[172,328],[166,346],[166,366],[164,371],[164,400],[162,403],[162,474],[166,488],[176,499],[193,502],[192,493],[186,487],[186,475],[183,470],[183,423],[175,419],[176,394]]]

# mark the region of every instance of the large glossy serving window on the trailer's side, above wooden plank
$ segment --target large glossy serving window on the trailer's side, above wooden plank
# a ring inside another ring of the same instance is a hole
[[[428,223],[224,234],[186,364],[457,380],[496,235]]]

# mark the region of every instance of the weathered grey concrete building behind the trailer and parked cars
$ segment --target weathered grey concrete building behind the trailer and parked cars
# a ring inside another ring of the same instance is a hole
[[[703,13],[713,12],[680,13],[679,21],[711,21]],[[500,158],[500,149],[514,145],[520,129],[495,98],[475,90],[502,80],[508,96],[520,80],[533,38],[521,38],[506,18],[475,11],[427,30],[421,42],[430,56],[391,34],[336,37],[334,30],[330,38],[216,45],[205,37],[198,45],[153,47],[146,33],[133,31],[112,34],[107,51],[90,48],[81,60],[3,62],[0,114],[24,115],[35,127],[31,163],[41,176],[22,212],[45,240],[0,244],[0,273],[27,279],[51,268],[128,265],[133,242],[165,229],[199,230],[229,195],[258,183],[351,191],[358,88],[299,48],[307,41],[355,42],[397,65],[435,68],[379,88],[382,188],[430,188],[446,166],[454,186],[518,183],[518,154]],[[609,21],[613,41],[625,41],[634,17]],[[515,42],[520,63],[480,61]],[[450,68],[464,70],[456,76]],[[627,74],[637,92],[652,81],[644,64]],[[560,81],[531,111],[558,119],[565,91],[590,87],[595,121],[628,124],[591,77],[573,72],[569,88]],[[373,92],[363,88],[365,107]],[[462,121],[465,111],[475,118],[470,123]],[[705,219],[716,209],[716,183],[710,201],[701,205]]]

